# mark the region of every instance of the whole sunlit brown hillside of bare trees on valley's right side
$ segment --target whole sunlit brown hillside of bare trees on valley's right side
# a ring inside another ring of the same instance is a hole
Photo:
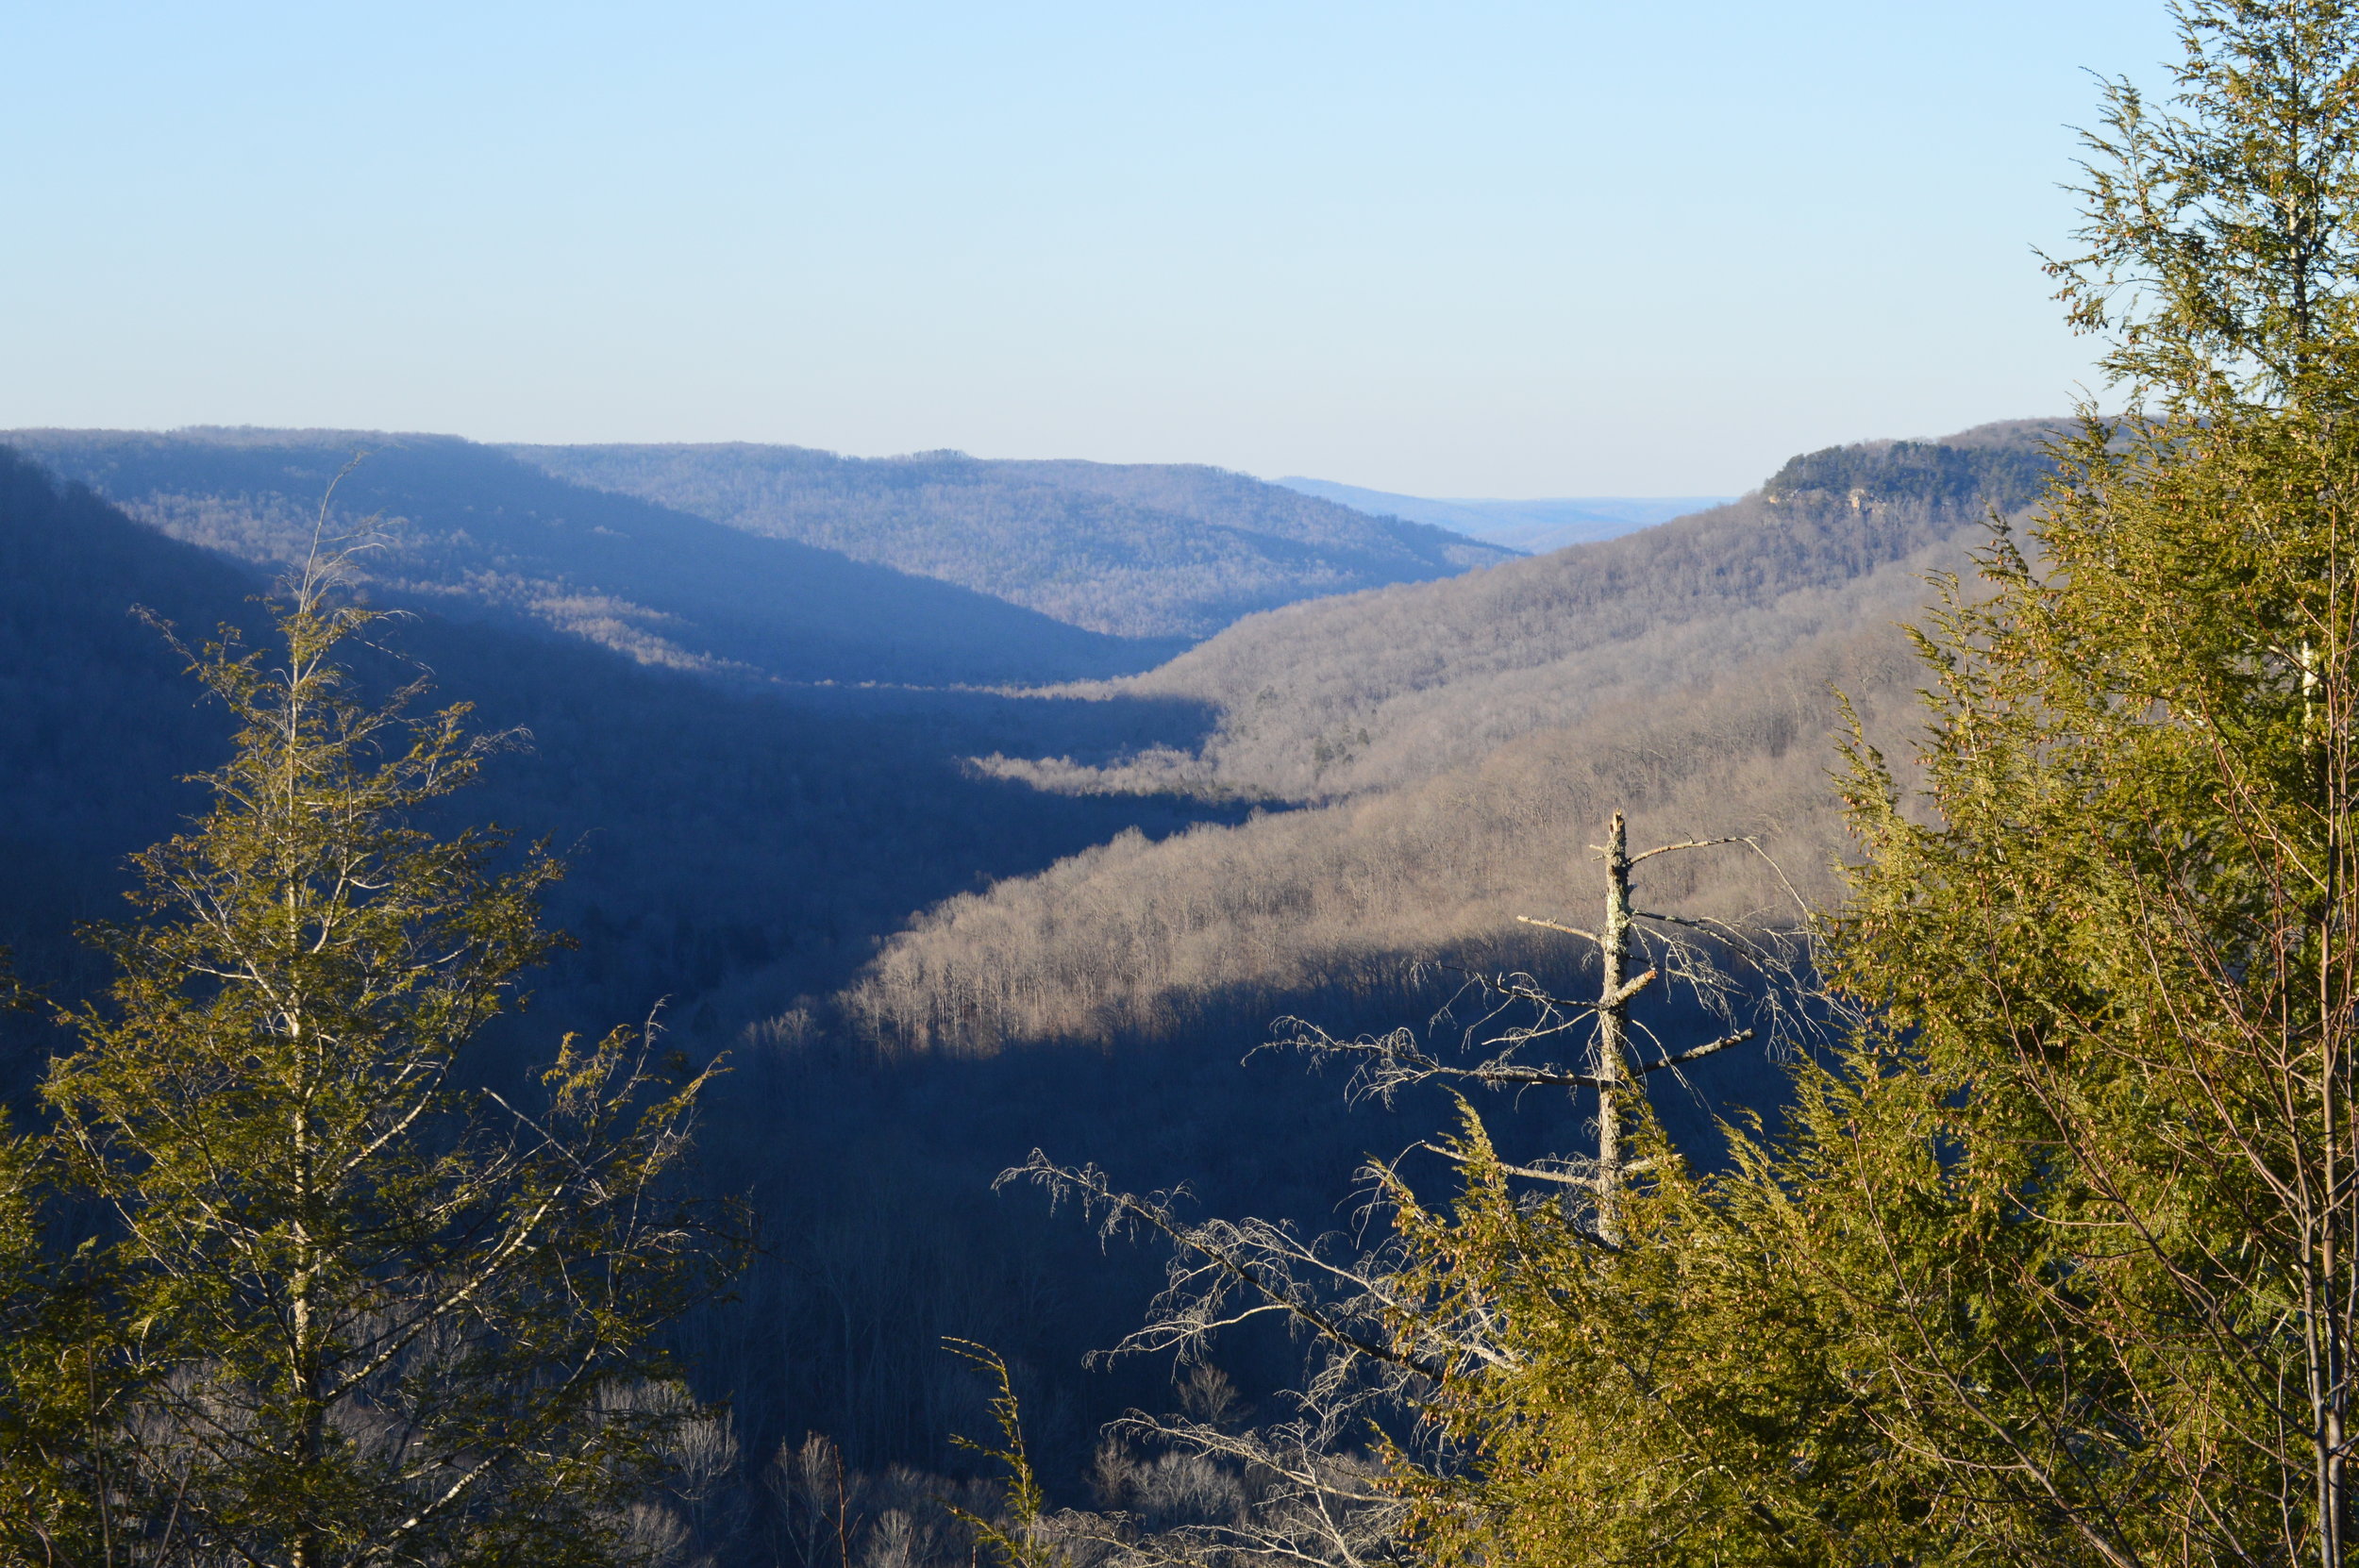
[[[1760,835],[1783,868],[1658,863],[1654,908],[1790,915],[1831,896],[1842,851],[1833,691],[1878,733],[1908,722],[1920,674],[1897,622],[1923,573],[1963,566],[1989,509],[2026,507],[2045,472],[2022,436],[1831,448],[1628,540],[1248,620],[1106,689],[1220,703],[1201,752],[988,766],[1328,804],[960,896],[845,1004],[882,1042],[948,1052],[1184,1035],[1241,997],[1264,1019],[1373,997],[1415,1016],[1448,990],[1434,964],[1573,962],[1514,917],[1588,908],[1583,846],[1616,809],[1635,837]]]

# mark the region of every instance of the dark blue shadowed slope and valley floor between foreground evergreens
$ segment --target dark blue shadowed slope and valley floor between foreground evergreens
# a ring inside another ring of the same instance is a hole
[[[125,856],[201,804],[182,778],[229,750],[222,710],[130,608],[191,637],[222,620],[252,630],[262,587],[264,573],[0,446],[0,946],[59,1000],[106,979],[75,922],[130,913]],[[665,997],[672,1045],[696,1061],[729,1047],[696,1181],[753,1200],[769,1245],[679,1353],[757,1460],[816,1429],[845,1445],[854,1485],[861,1467],[955,1462],[946,1434],[988,1419],[962,1363],[941,1356],[960,1337],[1031,1368],[1036,1464],[1078,1488],[1099,1424],[1168,1396],[1158,1370],[1083,1372],[1087,1349],[1137,1323],[1158,1269],[1109,1261],[1087,1226],[993,1193],[993,1172],[1052,1144],[1146,1186],[1217,1172],[1208,1200],[1316,1224],[1347,1198],[1352,1153],[1430,1132],[1349,1113],[1286,1073],[1224,1073],[1234,1054],[1217,1040],[882,1066],[793,1009],[847,981],[915,908],[1201,816],[979,780],[955,752],[1045,724],[1106,745],[1125,740],[1125,712],[1146,731],[1184,714],[974,691],[778,696],[484,615],[382,632],[432,670],[432,700],[531,731],[451,802],[453,818],[550,835],[571,865],[550,913],[580,948],[533,976],[533,1007],[469,1047],[465,1070],[519,1073],[564,1030],[597,1037]],[[373,691],[415,674],[363,651],[356,663]],[[778,1028],[741,1028],[778,1012]],[[0,1101],[19,1127],[38,1125],[26,1089],[66,1045],[40,1012],[0,1009]]]

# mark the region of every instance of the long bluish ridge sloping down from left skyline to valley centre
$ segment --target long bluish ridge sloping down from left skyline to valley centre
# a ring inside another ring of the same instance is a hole
[[[455,436],[19,431],[17,448],[172,538],[293,559],[318,498],[382,514],[380,592],[526,620],[646,665],[790,681],[1043,681],[1175,644],[1099,637],[988,594],[566,483]]]

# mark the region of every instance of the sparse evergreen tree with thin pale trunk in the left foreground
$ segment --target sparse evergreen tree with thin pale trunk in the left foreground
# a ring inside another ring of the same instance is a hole
[[[342,658],[377,615],[330,578],[314,556],[269,658],[193,655],[236,755],[137,858],[120,979],[45,1085],[116,1221],[94,1523],[120,1561],[627,1559],[694,1415],[649,1396],[651,1332],[734,1247],[670,1188],[708,1073],[616,1030],[531,1101],[469,1082],[559,868],[422,825],[500,738],[410,717],[415,686],[366,700]]]

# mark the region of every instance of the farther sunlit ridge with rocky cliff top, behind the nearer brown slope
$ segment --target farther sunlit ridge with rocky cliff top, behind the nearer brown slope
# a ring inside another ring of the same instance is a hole
[[[1104,686],[1215,705],[1222,722],[1201,752],[1029,776],[1276,799],[1430,778],[1616,689],[1715,679],[1849,625],[1852,585],[2038,495],[2043,429],[2052,422],[1805,453],[1753,495],[1618,540],[1253,615]]]

